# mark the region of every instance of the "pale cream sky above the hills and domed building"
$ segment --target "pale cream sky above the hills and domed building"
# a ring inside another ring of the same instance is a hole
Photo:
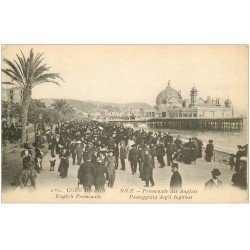
[[[247,111],[246,45],[4,45],[2,57],[12,60],[31,48],[43,52],[51,71],[64,79],[60,87],[37,86],[33,98],[154,105],[170,80],[184,99],[195,86],[199,97],[230,98],[236,109]]]

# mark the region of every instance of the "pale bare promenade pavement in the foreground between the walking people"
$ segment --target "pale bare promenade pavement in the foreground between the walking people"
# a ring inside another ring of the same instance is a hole
[[[19,187],[9,187],[8,189],[6,189],[6,191],[4,190],[3,196],[9,194],[13,199],[13,197],[21,197],[23,196],[23,194],[25,194],[24,200],[26,200],[27,202],[29,201],[29,197],[31,196],[34,196],[36,201],[42,202],[47,200],[46,196],[51,195],[51,192],[53,193],[56,192],[57,190],[77,188],[77,171],[79,167],[77,165],[74,166],[72,165],[72,159],[70,158],[68,177],[66,179],[61,179],[57,171],[59,165],[59,157],[57,156],[55,171],[49,171],[50,169],[49,158],[50,158],[49,153],[44,156],[43,159],[44,170],[41,171],[40,174],[38,174],[36,190],[32,192],[27,192],[21,190]],[[203,159],[198,159],[196,165],[194,164],[185,165],[183,163],[179,163],[179,172],[182,176],[183,188],[187,189],[187,188],[199,187],[200,190],[203,191],[205,182],[211,179],[211,170],[213,168],[220,169],[222,173],[220,179],[223,181],[224,189],[228,190],[226,192],[227,195],[230,196],[231,190],[233,191],[237,190],[239,191],[240,196],[247,197],[246,191],[238,190],[237,188],[232,186],[231,177],[234,171],[232,171],[229,166],[225,164],[220,164],[218,162],[208,163],[205,162]],[[138,178],[139,177],[138,170],[135,175],[131,174],[131,168],[128,161],[126,161],[125,171],[119,169],[116,171],[116,180],[114,189],[111,190],[110,188],[106,188],[106,195],[112,194],[114,190],[119,190],[121,188],[144,189],[145,182],[141,181],[141,179]],[[159,168],[159,164],[158,162],[156,162],[154,169],[155,187],[153,187],[153,189],[158,189],[158,188],[169,189],[171,175],[172,172],[170,167]],[[152,189],[152,188],[147,188],[147,189]]]

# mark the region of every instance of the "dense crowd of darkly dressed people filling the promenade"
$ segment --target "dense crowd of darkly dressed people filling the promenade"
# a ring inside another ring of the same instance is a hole
[[[146,132],[97,121],[61,124],[54,132],[46,132],[46,140],[51,154],[50,171],[55,171],[58,155],[59,163],[56,170],[61,178],[67,178],[69,162],[72,161],[72,165],[79,166],[78,185],[82,185],[85,191],[92,190],[93,186],[95,191],[103,191],[106,183],[108,187],[113,188],[116,170],[124,171],[128,167],[132,175],[138,173],[146,187],[149,184],[154,186],[153,170],[156,161],[160,168],[166,165],[171,167],[173,175],[170,187],[181,188],[182,179],[178,171],[178,162],[196,164],[196,160],[203,157],[203,142],[198,138],[190,138],[184,142],[180,135],[174,138],[167,132]],[[43,158],[41,140],[37,139],[33,146],[35,170],[39,173],[42,170]],[[29,170],[32,153],[28,144],[24,147],[21,154],[23,168]],[[209,140],[204,158],[210,162],[213,155],[213,141]],[[165,156],[167,162],[164,161]],[[127,162],[129,166],[126,166]]]

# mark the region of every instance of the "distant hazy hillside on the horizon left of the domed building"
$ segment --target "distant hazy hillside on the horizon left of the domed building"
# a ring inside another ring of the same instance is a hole
[[[51,98],[39,99],[41,102],[45,103],[46,106],[50,106],[53,102]],[[110,102],[97,102],[97,101],[79,101],[66,99],[73,107],[82,112],[88,112],[92,109],[107,109],[109,111],[119,111],[121,109],[126,109],[128,107],[132,108],[148,108],[151,107],[149,104],[144,102],[134,102],[134,103],[110,103]]]

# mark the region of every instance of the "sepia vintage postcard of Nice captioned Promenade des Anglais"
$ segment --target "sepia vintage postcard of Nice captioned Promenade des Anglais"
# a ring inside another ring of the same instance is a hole
[[[248,45],[2,45],[3,203],[248,203]]]

